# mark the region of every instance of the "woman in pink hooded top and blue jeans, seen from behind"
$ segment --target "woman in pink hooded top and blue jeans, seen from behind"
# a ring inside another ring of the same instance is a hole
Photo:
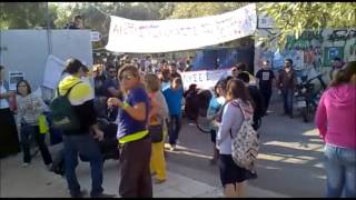
[[[326,156],[327,197],[356,197],[356,61],[346,63],[322,96],[316,127]]]

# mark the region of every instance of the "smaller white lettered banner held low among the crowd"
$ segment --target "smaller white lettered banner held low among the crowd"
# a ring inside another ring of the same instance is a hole
[[[181,72],[180,76],[185,90],[187,90],[192,83],[197,84],[200,89],[211,89],[220,79],[226,78],[230,73],[230,69],[222,69],[187,71]]]

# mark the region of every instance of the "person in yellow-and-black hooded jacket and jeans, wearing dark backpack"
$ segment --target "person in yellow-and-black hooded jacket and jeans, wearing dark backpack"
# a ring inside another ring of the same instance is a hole
[[[76,176],[79,152],[90,162],[92,179],[90,196],[113,197],[102,193],[102,156],[96,139],[102,140],[103,132],[99,130],[97,124],[93,89],[88,82],[81,80],[83,64],[78,59],[68,59],[66,64],[66,72],[69,76],[59,82],[58,90],[60,96],[69,92],[68,99],[80,123],[78,130],[63,131],[65,168],[70,194],[75,198],[81,198],[86,194],[86,190],[80,190]]]

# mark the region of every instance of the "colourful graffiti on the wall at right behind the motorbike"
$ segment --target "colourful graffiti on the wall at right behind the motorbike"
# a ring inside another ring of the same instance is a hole
[[[267,36],[273,38],[269,31]],[[335,57],[346,61],[352,60],[350,57],[356,58],[355,43],[355,29],[305,31],[298,39],[288,37],[286,47],[280,51],[276,47],[256,47],[255,64],[260,67],[264,60],[268,60],[274,70],[279,70],[284,60],[290,58],[297,70],[322,71],[322,67],[330,67]]]

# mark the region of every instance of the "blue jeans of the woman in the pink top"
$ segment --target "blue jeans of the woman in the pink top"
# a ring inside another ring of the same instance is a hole
[[[356,150],[325,146],[327,197],[356,198]]]

